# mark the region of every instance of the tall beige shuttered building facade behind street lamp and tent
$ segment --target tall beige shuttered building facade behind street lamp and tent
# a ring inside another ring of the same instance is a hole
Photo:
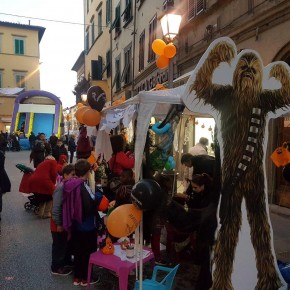
[[[256,50],[265,66],[278,60],[290,64],[288,0],[84,0],[84,76],[89,85],[96,84],[96,76],[103,80],[110,101],[154,89],[158,83],[166,86],[168,68],[157,68],[151,44],[163,38],[160,18],[168,8],[182,15],[174,40],[174,86],[186,82],[208,45],[222,36],[231,37],[238,50]],[[195,118],[190,122],[194,136]],[[290,139],[284,124],[284,118],[270,122],[268,155]],[[279,203],[281,170],[269,160],[266,167],[271,200]]]

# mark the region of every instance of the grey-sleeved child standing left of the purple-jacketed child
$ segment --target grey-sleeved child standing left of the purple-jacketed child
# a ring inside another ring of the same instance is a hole
[[[63,183],[74,175],[74,165],[66,165],[62,170],[63,179],[53,193],[52,218],[50,220],[52,235],[51,274],[53,275],[67,276],[72,272],[71,269],[65,268],[65,265],[71,263],[71,240],[68,241],[67,232],[62,226],[62,196]]]

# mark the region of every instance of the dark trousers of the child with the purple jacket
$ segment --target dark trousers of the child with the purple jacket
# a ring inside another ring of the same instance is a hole
[[[75,231],[73,235],[74,277],[87,280],[90,255],[97,250],[97,231]]]

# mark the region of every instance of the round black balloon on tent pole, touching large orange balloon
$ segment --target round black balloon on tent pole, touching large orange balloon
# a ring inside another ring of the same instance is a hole
[[[163,201],[163,191],[153,179],[142,179],[137,182],[131,193],[133,204],[142,210],[157,209]]]

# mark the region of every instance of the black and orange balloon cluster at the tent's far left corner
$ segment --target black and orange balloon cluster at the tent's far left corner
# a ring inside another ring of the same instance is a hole
[[[101,111],[106,103],[106,94],[99,86],[92,86],[87,92],[89,106],[78,103],[76,119],[87,126],[96,126],[101,121]]]

